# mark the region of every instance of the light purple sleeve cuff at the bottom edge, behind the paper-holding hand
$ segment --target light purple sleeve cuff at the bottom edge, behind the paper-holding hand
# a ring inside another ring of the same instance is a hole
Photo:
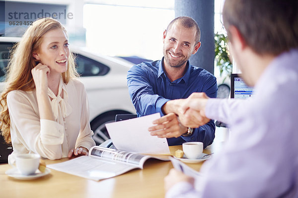
[[[194,191],[193,186],[188,182],[179,182],[172,186],[165,194],[165,198],[182,198],[186,193]]]

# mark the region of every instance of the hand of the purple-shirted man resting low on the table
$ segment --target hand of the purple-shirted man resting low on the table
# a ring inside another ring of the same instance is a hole
[[[194,186],[193,177],[189,177],[183,174],[181,171],[172,168],[169,174],[164,178],[164,190],[167,192],[168,190],[170,190],[171,187],[179,182],[188,182],[192,186]]]

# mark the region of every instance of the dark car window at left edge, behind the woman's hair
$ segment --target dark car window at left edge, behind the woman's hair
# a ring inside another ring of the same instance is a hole
[[[4,81],[5,69],[8,64],[8,52],[12,46],[13,43],[0,42],[0,82]]]

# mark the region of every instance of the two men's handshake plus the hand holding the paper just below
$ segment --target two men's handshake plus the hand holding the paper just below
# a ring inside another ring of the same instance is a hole
[[[154,120],[150,134],[159,138],[179,137],[188,127],[198,128],[210,121],[205,115],[205,106],[209,97],[205,93],[193,93],[187,99],[167,101],[162,110],[165,116]]]

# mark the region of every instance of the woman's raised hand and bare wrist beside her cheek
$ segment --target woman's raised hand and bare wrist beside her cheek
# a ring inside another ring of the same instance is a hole
[[[36,91],[40,93],[48,93],[48,74],[50,69],[47,65],[38,63],[32,70],[32,77],[34,80]]]

